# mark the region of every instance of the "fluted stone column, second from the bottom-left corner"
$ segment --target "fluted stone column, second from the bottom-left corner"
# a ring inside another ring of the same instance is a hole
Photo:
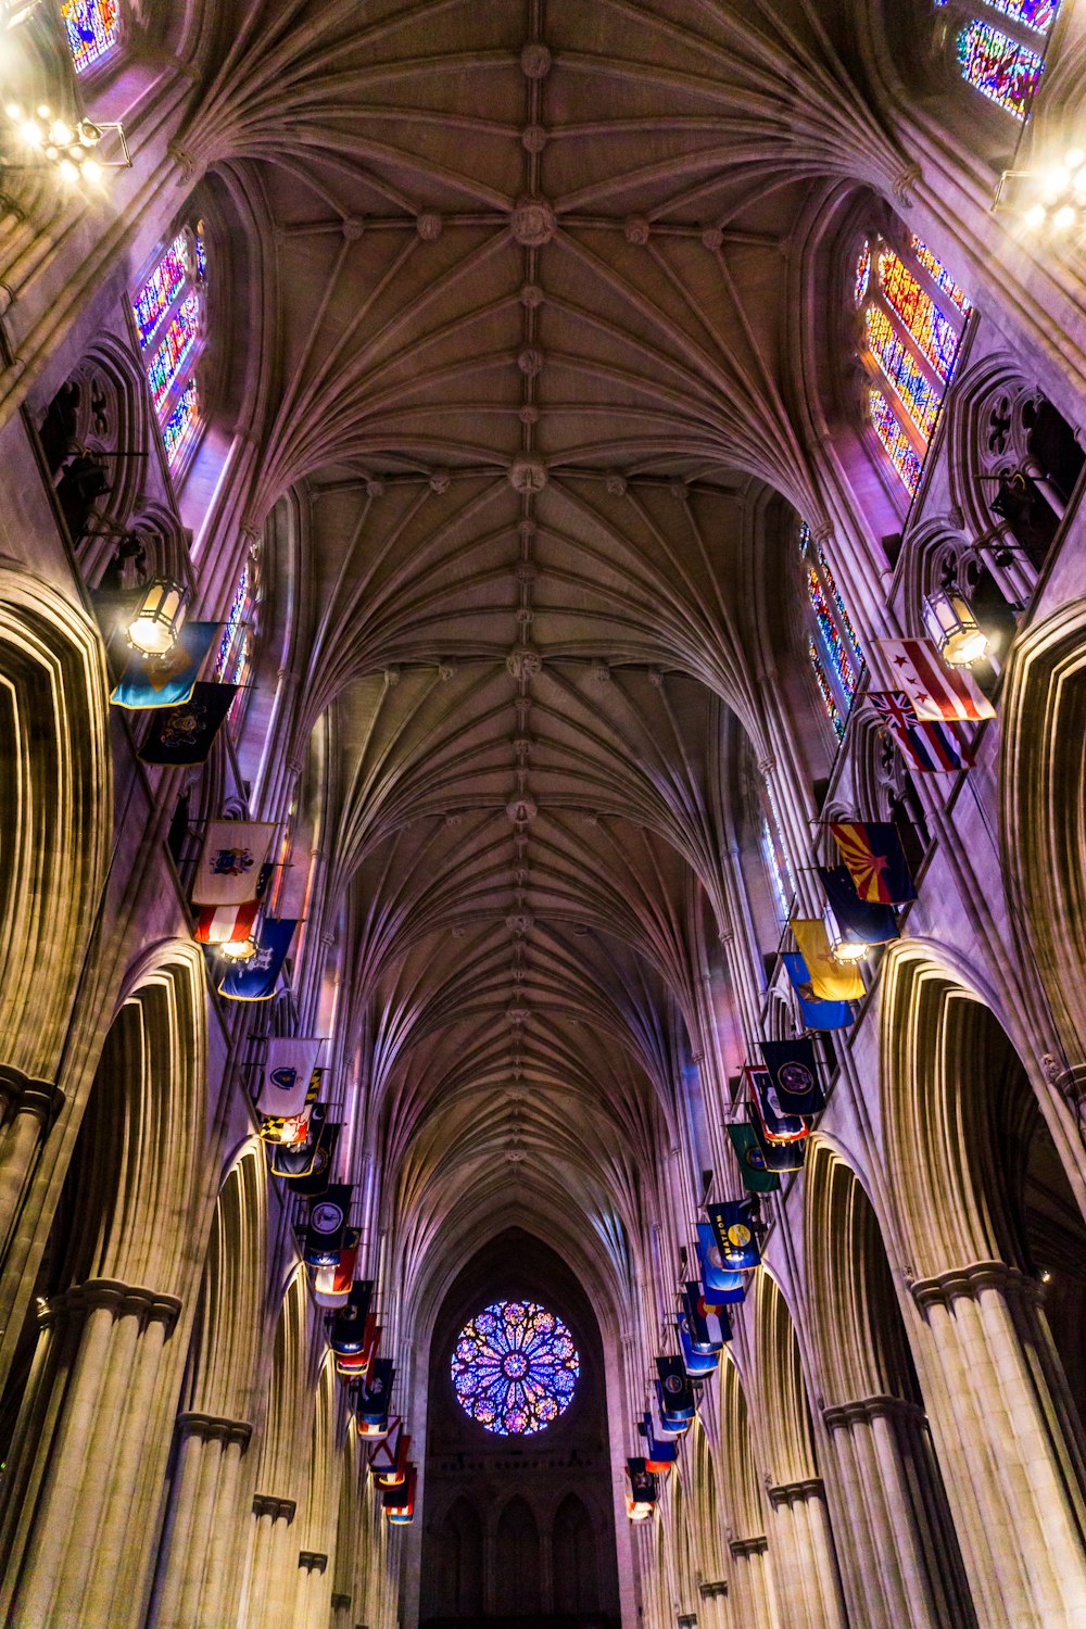
[[[169,1526],[148,1629],[215,1629],[236,1613],[238,1481],[252,1427],[177,1416]]]

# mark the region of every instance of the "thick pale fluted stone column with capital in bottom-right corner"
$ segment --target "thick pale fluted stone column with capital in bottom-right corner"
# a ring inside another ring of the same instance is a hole
[[[1081,1629],[1083,1464],[1039,1285],[985,1261],[910,1289],[938,1365],[933,1432],[983,1629]]]

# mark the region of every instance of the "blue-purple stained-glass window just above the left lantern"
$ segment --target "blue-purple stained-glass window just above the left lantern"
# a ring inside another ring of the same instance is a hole
[[[204,226],[182,228],[140,285],[132,313],[171,471],[202,424],[197,363],[205,336]]]

